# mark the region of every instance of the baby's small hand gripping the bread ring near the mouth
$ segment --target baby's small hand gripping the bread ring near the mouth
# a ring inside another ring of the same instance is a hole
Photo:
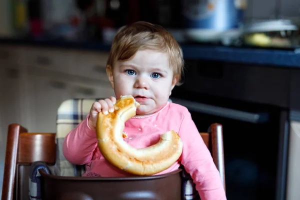
[[[114,111],[114,104],[116,103],[116,98],[110,96],[109,98],[101,99],[95,101],[90,108],[88,117],[88,126],[90,129],[96,129],[98,113],[102,111],[103,114],[108,114],[108,112]]]

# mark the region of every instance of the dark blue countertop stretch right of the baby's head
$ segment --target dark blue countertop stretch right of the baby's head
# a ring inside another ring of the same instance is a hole
[[[300,48],[271,49],[253,47],[183,45],[185,59],[300,68]]]

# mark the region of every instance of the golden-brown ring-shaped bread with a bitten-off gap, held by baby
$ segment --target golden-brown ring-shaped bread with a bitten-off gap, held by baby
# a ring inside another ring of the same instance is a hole
[[[98,147],[112,165],[136,175],[151,175],[167,169],[182,153],[182,140],[170,130],[160,135],[160,140],[145,148],[134,148],[123,140],[126,120],[135,115],[136,107],[131,95],[121,96],[114,112],[99,112],[96,125]]]

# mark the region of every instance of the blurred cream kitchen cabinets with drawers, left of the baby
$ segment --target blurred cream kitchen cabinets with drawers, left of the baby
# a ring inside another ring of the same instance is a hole
[[[105,72],[107,52],[0,47],[0,141],[9,123],[30,132],[55,132],[59,105],[69,98],[114,95]]]

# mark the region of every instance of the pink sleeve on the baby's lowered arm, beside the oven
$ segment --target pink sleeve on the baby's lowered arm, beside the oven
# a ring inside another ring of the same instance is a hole
[[[188,111],[182,119],[179,135],[183,141],[180,161],[193,179],[200,198],[226,199],[219,171]]]

